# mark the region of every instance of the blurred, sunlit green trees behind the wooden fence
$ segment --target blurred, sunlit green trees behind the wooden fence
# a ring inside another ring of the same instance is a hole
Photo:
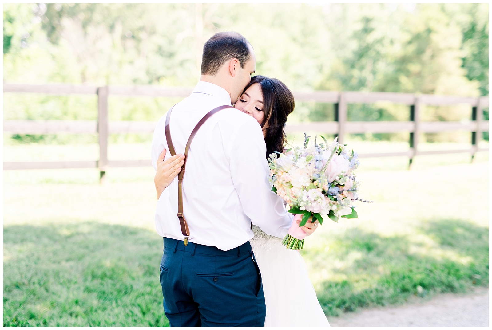
[[[192,87],[203,43],[235,30],[253,45],[256,72],[291,90],[489,95],[488,14],[487,3],[4,4],[3,81]],[[75,99],[7,95],[4,119],[95,119],[93,101]],[[111,116],[157,120],[162,107],[113,101]],[[423,116],[463,120],[468,112],[428,107]],[[333,120],[333,105],[299,102],[291,117]],[[349,120],[408,120],[408,109],[351,105]]]

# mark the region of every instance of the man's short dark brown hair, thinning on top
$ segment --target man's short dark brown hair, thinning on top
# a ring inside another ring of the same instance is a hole
[[[203,46],[202,74],[213,76],[224,62],[238,59],[244,68],[249,60],[249,41],[238,32],[215,33]]]

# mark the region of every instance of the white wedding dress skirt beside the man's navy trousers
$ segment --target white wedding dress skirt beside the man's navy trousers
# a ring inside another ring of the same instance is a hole
[[[250,240],[263,280],[265,327],[330,327],[298,250],[253,226]]]

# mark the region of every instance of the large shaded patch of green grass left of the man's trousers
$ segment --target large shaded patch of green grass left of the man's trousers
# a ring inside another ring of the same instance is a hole
[[[4,326],[168,326],[155,233],[100,223],[3,229]]]

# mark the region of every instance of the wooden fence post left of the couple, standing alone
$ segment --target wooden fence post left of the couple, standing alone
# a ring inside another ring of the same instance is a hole
[[[108,87],[97,89],[97,133],[99,135],[99,183],[105,180],[108,166]]]

